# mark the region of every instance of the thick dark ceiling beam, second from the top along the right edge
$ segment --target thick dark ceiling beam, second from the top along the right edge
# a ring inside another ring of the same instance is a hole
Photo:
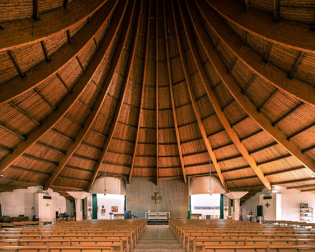
[[[207,3],[206,3],[207,2]],[[230,0],[226,1],[230,2]],[[226,3],[225,2],[225,3]],[[245,64],[246,66],[253,71],[253,73],[257,74],[260,78],[262,78],[267,83],[270,83],[275,88],[280,89],[282,92],[293,95],[296,99],[300,100],[301,102],[305,102],[308,105],[315,107],[315,87],[312,85],[298,79],[294,78],[290,80],[287,78],[288,74],[278,68],[277,66],[273,65],[272,63],[264,64],[261,61],[261,55],[258,54],[254,49],[252,49],[249,45],[242,44],[242,40],[240,37],[236,34],[235,31],[232,30],[230,26],[228,26],[226,23],[224,23],[222,17],[219,15],[219,13],[216,12],[219,6],[217,5],[217,0],[215,1],[204,1],[204,0],[198,0],[196,1],[197,7],[202,15],[202,17],[206,20],[206,22],[209,24],[211,29],[215,32],[215,34],[221,39],[221,43],[224,43],[227,48],[238,57],[238,59]],[[209,3],[209,4],[208,4]],[[233,3],[233,6],[237,4]],[[213,7],[213,8],[212,8]],[[221,8],[220,8],[221,9]],[[229,8],[230,10],[231,8]],[[227,11],[229,11],[227,10]],[[221,12],[220,12],[221,13]],[[262,13],[262,12],[261,12]],[[241,15],[244,16],[244,15]],[[239,27],[238,23],[235,23],[232,21],[233,24]],[[252,22],[251,22],[252,23]],[[282,22],[280,22],[283,24]],[[277,23],[277,25],[280,25],[280,23]],[[254,23],[252,23],[255,25]],[[274,24],[274,22],[273,22]],[[269,25],[269,27],[276,27]],[[266,26],[264,27],[266,28]],[[242,27],[242,30],[243,27]],[[264,31],[265,29],[261,29],[260,31]],[[247,30],[251,34],[253,34],[251,31]],[[280,30],[278,30],[280,31]],[[292,29],[290,29],[292,31]],[[309,33],[309,32],[308,32]],[[277,32],[279,34],[279,32]],[[284,33],[281,33],[281,35],[284,35]],[[258,34],[255,36],[260,37]],[[292,35],[290,35],[291,37]],[[282,36],[285,37],[285,36]],[[305,37],[303,38],[303,41],[305,41]],[[211,41],[211,40],[210,40]],[[265,56],[263,61],[265,63],[268,60],[268,56],[272,47],[272,43],[277,43],[277,41],[274,40],[268,40],[268,46],[266,48]],[[297,39],[290,39],[290,41],[298,41]],[[288,45],[283,45],[288,46]],[[297,48],[295,48],[297,49]],[[315,49],[315,48],[314,48]],[[303,49],[299,49],[301,51],[304,51]]]

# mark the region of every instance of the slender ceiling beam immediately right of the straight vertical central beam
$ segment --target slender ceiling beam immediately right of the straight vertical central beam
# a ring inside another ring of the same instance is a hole
[[[176,134],[176,141],[178,146],[178,152],[180,157],[180,165],[183,172],[184,182],[187,182],[186,178],[186,170],[185,170],[185,163],[183,159],[183,151],[180,145],[180,135],[179,135],[179,126],[177,121],[176,115],[176,107],[175,107],[175,100],[174,100],[174,85],[172,83],[172,76],[171,76],[171,62],[170,62],[170,55],[169,55],[169,37],[167,35],[167,27],[166,27],[166,9],[165,9],[165,1],[163,1],[163,20],[164,20],[164,37],[165,37],[165,52],[166,52],[166,59],[167,59],[167,73],[169,78],[169,91],[170,91],[170,98],[172,102],[172,112],[173,112],[173,119],[174,119],[174,128]]]

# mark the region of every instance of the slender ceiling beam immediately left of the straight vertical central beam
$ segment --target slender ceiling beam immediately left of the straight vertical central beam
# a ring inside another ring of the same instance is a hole
[[[138,145],[138,140],[139,140],[139,135],[140,135],[140,124],[142,123],[143,119],[143,102],[144,102],[144,89],[145,89],[145,84],[144,82],[146,81],[146,71],[147,71],[147,63],[148,63],[148,50],[149,50],[149,31],[150,31],[150,22],[151,22],[151,0],[149,1],[149,10],[148,10],[148,18],[147,18],[147,29],[146,29],[146,49],[144,50],[144,63],[143,63],[143,69],[142,69],[142,83],[141,83],[141,89],[140,89],[140,106],[139,106],[139,112],[138,112],[138,117],[137,117],[137,127],[136,127],[136,133],[135,133],[135,142],[134,142],[134,147],[132,150],[132,158],[131,158],[131,164],[130,164],[130,171],[129,171],[129,179],[128,183],[131,181],[132,177],[132,171],[134,169],[134,164],[135,164],[135,153],[137,152],[137,145]]]

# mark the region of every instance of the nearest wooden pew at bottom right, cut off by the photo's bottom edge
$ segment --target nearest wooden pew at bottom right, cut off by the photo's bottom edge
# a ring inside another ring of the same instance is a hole
[[[313,252],[315,246],[203,246],[203,252]]]

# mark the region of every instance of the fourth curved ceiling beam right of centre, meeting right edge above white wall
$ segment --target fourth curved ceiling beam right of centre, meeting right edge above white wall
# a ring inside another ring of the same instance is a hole
[[[251,119],[253,119],[261,127],[261,129],[265,130],[274,140],[287,149],[288,152],[297,160],[299,160],[303,165],[312,171],[315,171],[315,161],[307,154],[302,154],[301,148],[292,141],[289,142],[289,140],[287,140],[287,136],[277,126],[273,127],[270,120],[263,113],[257,112],[255,105],[246,95],[241,93],[238,83],[230,74],[227,74],[226,66],[222,62],[218,53],[215,52],[205,28],[200,25],[195,25],[195,23],[198,23],[198,21],[200,21],[200,18],[198,18],[198,20],[193,20],[193,24],[199,37],[199,41],[202,44],[203,49],[207,57],[210,59],[215,71],[221,78],[226,88],[230,91],[234,99],[237,100],[238,104],[249,115],[249,117],[251,117]]]

